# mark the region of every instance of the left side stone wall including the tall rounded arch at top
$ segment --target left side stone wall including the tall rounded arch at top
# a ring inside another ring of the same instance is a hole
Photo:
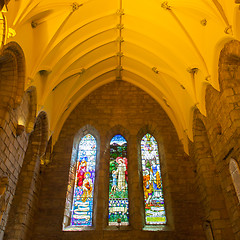
[[[17,136],[21,119],[28,122],[29,98],[24,94],[25,58],[21,47],[10,42],[1,49],[0,63],[0,239],[15,193],[28,137]]]

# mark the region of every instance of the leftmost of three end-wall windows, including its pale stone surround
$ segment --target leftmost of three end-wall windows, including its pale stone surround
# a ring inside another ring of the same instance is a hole
[[[86,126],[75,136],[69,170],[63,230],[76,231],[95,224],[94,189],[99,161],[99,136]]]

